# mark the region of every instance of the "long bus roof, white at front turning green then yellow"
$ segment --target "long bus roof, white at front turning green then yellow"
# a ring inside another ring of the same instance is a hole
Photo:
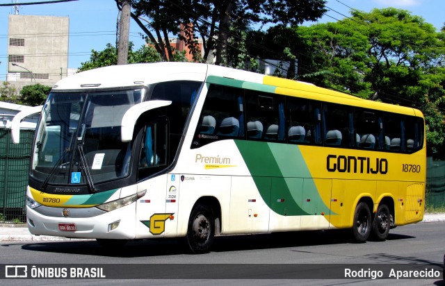
[[[308,99],[423,117],[422,113],[414,108],[360,99],[350,94],[317,87],[311,83],[193,62],[156,62],[100,67],[63,78],[54,85],[53,90],[140,87],[150,83],[174,80],[207,81],[250,90],[301,96]]]

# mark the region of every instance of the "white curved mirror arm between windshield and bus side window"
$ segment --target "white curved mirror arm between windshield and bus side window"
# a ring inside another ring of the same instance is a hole
[[[120,135],[122,142],[130,142],[133,139],[134,124],[144,112],[152,110],[154,108],[160,108],[163,106],[170,106],[172,101],[154,100],[144,101],[131,106],[122,117],[122,124],[120,124]]]

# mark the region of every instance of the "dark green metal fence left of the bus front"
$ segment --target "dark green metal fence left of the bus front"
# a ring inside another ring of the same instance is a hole
[[[13,144],[9,128],[0,128],[0,221],[25,221],[26,185],[34,131],[20,131]]]

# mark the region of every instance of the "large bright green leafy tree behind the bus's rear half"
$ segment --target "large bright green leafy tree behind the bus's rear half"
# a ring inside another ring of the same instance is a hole
[[[445,33],[395,8],[352,11],[335,23],[295,28],[298,78],[365,99],[419,108],[429,151],[443,148]]]

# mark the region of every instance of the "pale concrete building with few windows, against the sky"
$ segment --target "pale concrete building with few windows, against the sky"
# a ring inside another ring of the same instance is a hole
[[[8,75],[21,90],[24,85],[52,86],[68,72],[69,17],[9,15]]]

